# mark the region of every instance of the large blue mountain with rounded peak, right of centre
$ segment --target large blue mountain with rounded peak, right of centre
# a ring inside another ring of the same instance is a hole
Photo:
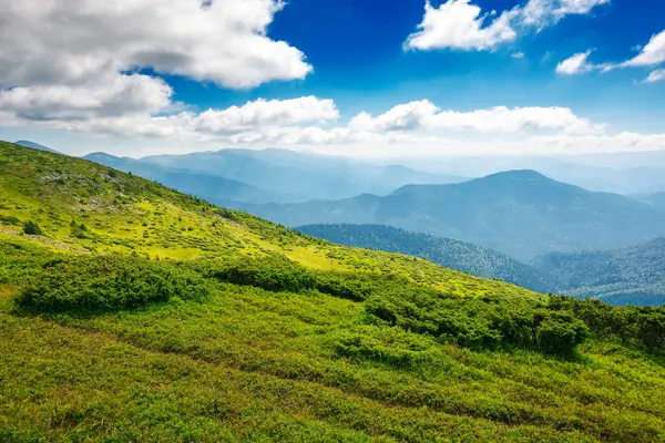
[[[287,226],[381,224],[490,247],[526,260],[665,235],[665,214],[632,198],[512,171],[454,185],[409,185],[380,197],[245,205]]]

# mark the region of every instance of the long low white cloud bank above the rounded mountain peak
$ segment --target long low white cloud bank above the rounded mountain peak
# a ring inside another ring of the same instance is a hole
[[[567,107],[495,106],[471,112],[441,111],[423,100],[395,106],[377,117],[361,113],[349,123],[351,128],[386,133],[391,131],[453,130],[481,133],[562,131],[570,134],[598,134],[604,125],[579,117]]]

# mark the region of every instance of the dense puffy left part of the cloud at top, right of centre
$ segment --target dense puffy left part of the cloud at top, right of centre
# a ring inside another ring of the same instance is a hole
[[[428,1],[419,31],[409,35],[406,47],[483,51],[514,40],[516,32],[511,27],[514,11],[505,11],[498,18],[493,16],[481,14],[481,9],[470,4],[470,0],[448,0],[439,8]]]

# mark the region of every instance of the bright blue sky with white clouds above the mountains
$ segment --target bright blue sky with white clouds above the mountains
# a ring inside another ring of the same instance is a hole
[[[663,0],[0,0],[0,138],[72,155],[665,151]]]

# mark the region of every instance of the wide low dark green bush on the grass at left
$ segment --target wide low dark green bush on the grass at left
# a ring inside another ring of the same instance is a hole
[[[45,264],[19,293],[18,303],[41,311],[114,310],[207,293],[200,275],[174,265],[120,255],[86,256]]]

